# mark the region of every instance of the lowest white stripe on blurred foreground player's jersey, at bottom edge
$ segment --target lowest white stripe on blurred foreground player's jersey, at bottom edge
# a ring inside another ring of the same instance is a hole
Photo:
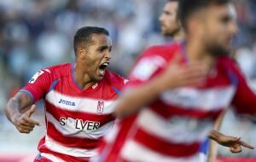
[[[189,158],[174,158],[164,154],[156,153],[148,148],[143,147],[137,142],[127,141],[122,148],[121,157],[128,161],[147,161],[147,162],[198,162],[198,156]]]

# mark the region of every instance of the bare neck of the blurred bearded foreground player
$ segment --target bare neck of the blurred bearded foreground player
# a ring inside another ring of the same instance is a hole
[[[207,67],[211,68],[214,65],[215,58],[212,57],[207,52],[204,46],[202,46],[200,41],[189,40],[186,42],[186,52],[191,62],[202,62],[207,65]]]

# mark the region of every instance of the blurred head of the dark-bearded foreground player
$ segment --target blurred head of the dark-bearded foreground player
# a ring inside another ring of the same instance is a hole
[[[237,31],[229,0],[180,0],[179,19],[187,39],[200,42],[212,55],[228,54]]]

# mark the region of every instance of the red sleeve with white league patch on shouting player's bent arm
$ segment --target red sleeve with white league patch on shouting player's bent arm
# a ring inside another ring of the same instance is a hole
[[[50,83],[51,72],[49,69],[42,69],[34,74],[20,92],[30,95],[32,100],[36,102],[47,94]]]

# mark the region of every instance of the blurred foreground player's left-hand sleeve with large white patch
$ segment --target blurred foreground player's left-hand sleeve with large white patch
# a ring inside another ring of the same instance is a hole
[[[125,88],[148,82],[150,78],[160,73],[165,65],[166,60],[163,57],[151,49],[146,49],[131,70]]]

